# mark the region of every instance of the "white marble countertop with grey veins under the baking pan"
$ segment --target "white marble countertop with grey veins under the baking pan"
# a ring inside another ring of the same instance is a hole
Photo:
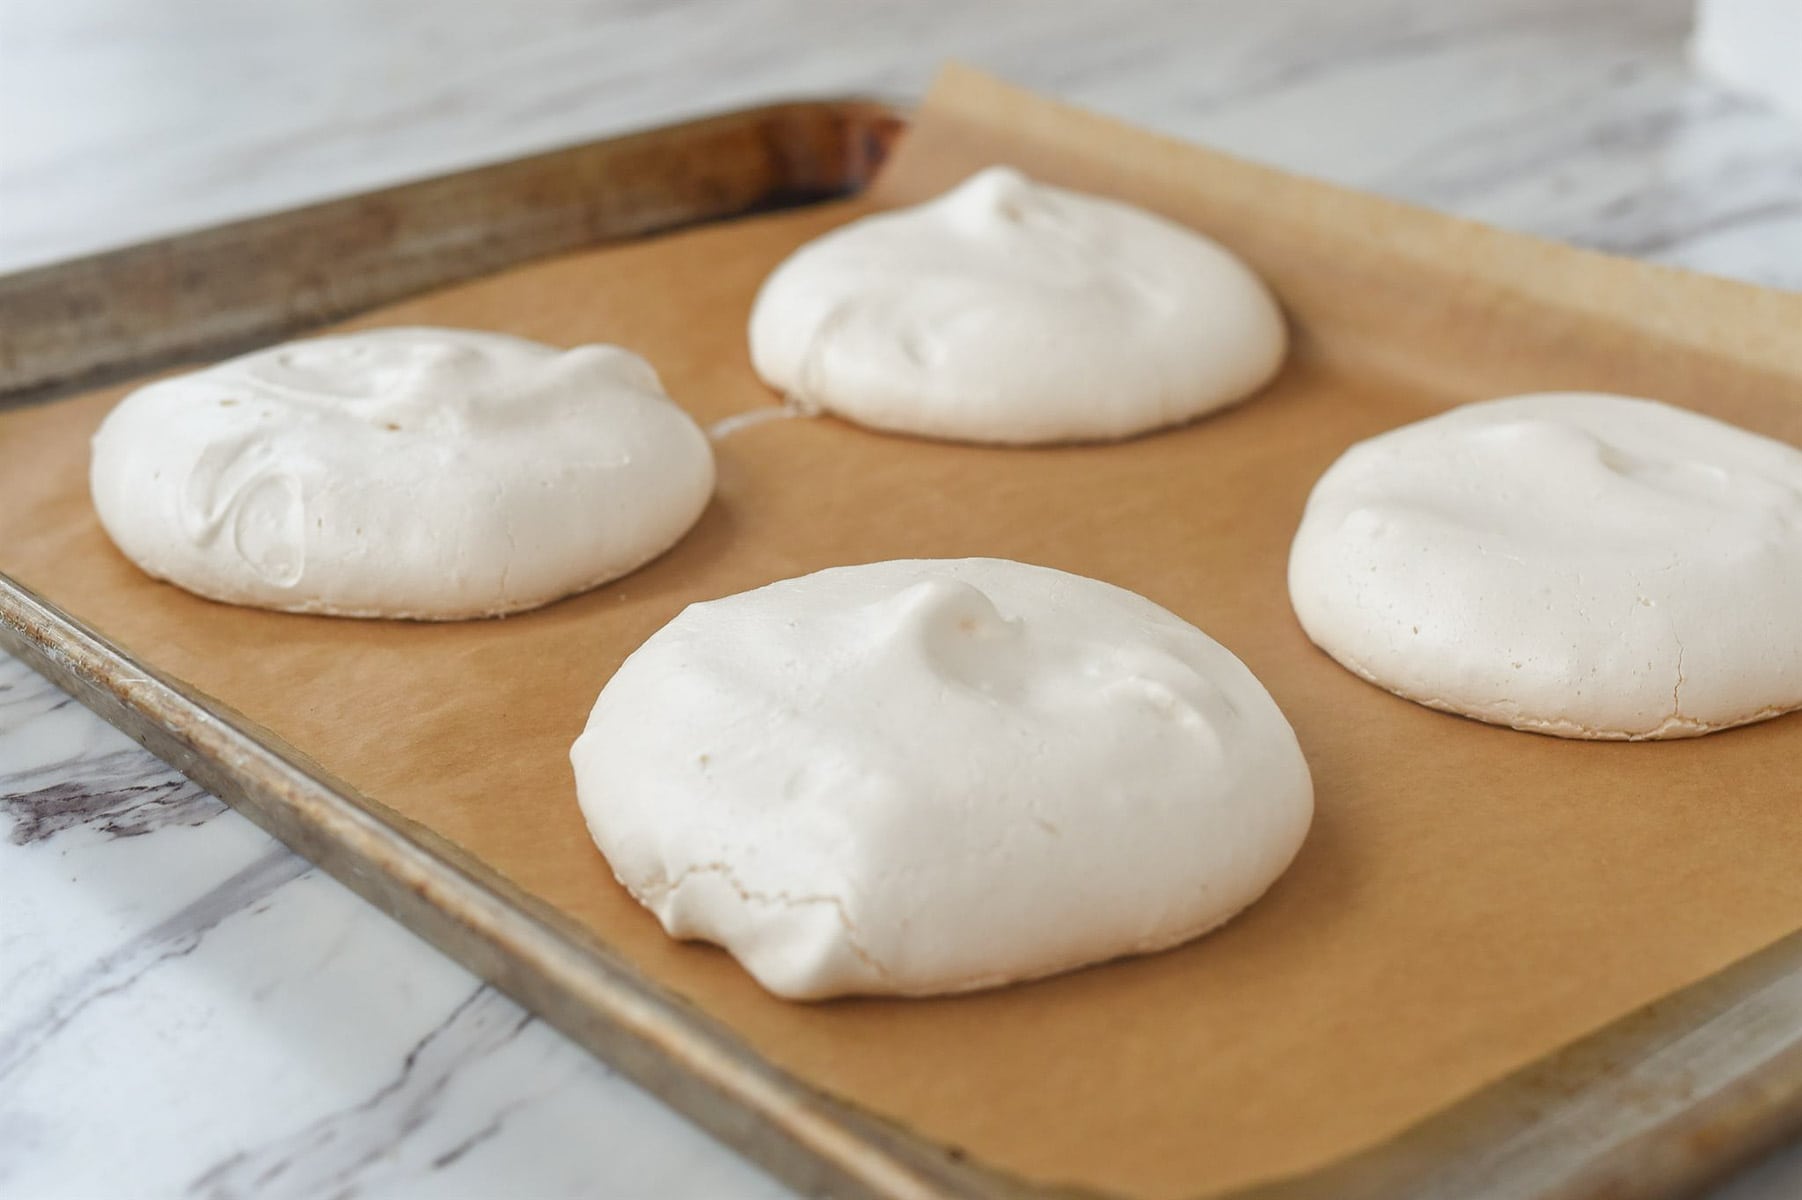
[[[906,97],[959,56],[1802,286],[1802,130],[1694,83],[1685,32],[1674,0],[0,0],[0,268],[757,99]],[[0,831],[0,1196],[786,1195],[11,659]],[[1802,1195],[1802,1150],[1716,1195]]]

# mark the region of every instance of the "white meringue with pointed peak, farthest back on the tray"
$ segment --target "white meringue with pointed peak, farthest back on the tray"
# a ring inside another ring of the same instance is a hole
[[[1242,400],[1283,315],[1233,254],[1115,200],[989,168],[804,245],[751,310],[804,409],[959,441],[1126,438]]]

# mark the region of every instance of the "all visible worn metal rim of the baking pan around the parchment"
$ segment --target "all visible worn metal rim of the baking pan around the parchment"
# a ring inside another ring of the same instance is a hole
[[[879,101],[771,105],[0,277],[0,405],[54,398],[562,250],[854,195]],[[1087,1196],[809,1088],[454,847],[0,575],[11,650],[577,1043],[804,1191]],[[1802,933],[1418,1126],[1247,1200],[1670,1196],[1802,1128]]]

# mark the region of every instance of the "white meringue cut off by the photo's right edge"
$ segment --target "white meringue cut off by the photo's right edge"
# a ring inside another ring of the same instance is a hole
[[[1288,591],[1429,708],[1613,741],[1764,721],[1802,708],[1802,450],[1633,396],[1467,404],[1321,476]]]

